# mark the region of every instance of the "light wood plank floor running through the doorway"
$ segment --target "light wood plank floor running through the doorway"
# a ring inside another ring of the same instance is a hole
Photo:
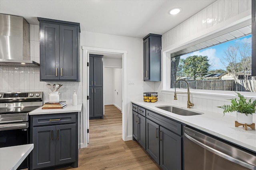
[[[105,106],[104,119],[90,120],[90,143],[80,149],[78,168],[59,170],[159,170],[160,166],[136,141],[122,140],[122,113]]]

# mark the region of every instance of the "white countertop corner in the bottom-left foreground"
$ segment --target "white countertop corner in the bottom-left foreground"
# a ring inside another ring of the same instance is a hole
[[[16,170],[34,148],[34,144],[0,148],[0,170]]]

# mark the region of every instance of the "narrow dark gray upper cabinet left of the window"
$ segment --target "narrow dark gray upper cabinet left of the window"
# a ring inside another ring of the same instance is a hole
[[[161,37],[150,33],[143,38],[144,81],[161,81]]]

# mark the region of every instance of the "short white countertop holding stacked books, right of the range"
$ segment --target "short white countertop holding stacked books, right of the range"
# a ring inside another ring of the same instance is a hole
[[[45,114],[54,114],[54,113],[71,113],[71,112],[81,112],[83,104],[78,104],[76,106],[68,104],[68,107],[64,109],[42,109],[39,107],[33,111],[30,111],[29,115],[45,115]]]

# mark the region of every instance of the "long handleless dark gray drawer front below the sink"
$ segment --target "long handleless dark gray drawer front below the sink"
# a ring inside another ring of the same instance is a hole
[[[158,115],[152,111],[146,110],[146,118],[158,123],[159,125],[177,133],[178,135],[182,135],[181,124],[175,121],[172,121],[166,117]]]

